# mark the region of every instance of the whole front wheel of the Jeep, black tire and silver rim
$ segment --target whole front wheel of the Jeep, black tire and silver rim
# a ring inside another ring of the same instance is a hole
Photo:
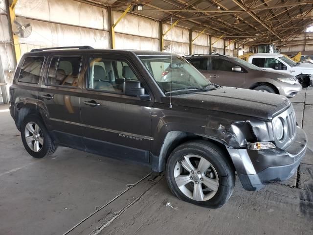
[[[224,150],[217,145],[190,141],[171,153],[166,180],[179,199],[202,207],[219,208],[233,192],[235,170]]]

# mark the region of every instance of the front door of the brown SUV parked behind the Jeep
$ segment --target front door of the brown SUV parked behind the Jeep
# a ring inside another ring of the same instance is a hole
[[[211,57],[209,62],[209,77],[212,83],[227,87],[245,87],[246,72],[232,71],[238,66],[221,57]],[[242,68],[243,70],[243,68]]]

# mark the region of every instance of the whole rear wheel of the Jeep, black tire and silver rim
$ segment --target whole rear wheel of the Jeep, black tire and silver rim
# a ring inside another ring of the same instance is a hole
[[[42,119],[35,114],[24,118],[21,137],[26,151],[34,158],[49,156],[57,149]]]

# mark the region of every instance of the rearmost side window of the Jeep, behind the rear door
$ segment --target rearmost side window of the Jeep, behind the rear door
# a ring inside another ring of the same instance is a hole
[[[44,61],[44,56],[25,58],[18,78],[19,82],[38,84]]]

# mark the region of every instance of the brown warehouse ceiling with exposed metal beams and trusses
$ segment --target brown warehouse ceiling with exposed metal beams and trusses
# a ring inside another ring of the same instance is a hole
[[[136,15],[164,23],[205,29],[215,37],[246,45],[278,42],[284,45],[313,25],[313,0],[85,0],[115,10],[143,4]]]

